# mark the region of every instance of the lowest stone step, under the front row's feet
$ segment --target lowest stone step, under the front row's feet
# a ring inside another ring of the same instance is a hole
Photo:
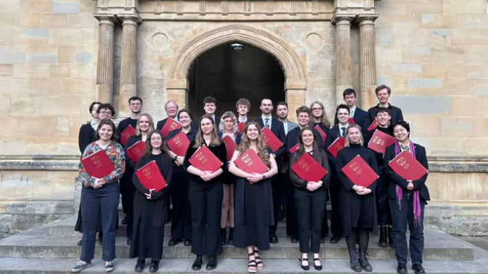
[[[27,259],[27,258],[0,258],[0,274],[58,274],[69,273],[68,271],[77,262],[75,259]],[[370,260],[374,273],[394,274],[397,263],[393,260]],[[159,273],[196,273],[191,270],[191,259],[163,259],[159,264]],[[203,262],[202,269],[198,273],[219,273],[219,274],[247,274],[247,260],[245,259],[222,259],[218,260],[218,266],[213,271],[206,271]],[[92,261],[92,266],[82,271],[84,274],[105,273],[103,262],[100,259]],[[112,273],[134,273],[136,259],[116,259],[114,261],[115,271]],[[144,273],[148,273],[150,260],[146,260]],[[310,272],[317,272],[313,267],[312,260],[309,261]],[[323,269],[321,273],[350,274],[354,273],[349,268],[349,260],[322,260]],[[408,264],[409,273],[413,273]],[[482,262],[462,261],[438,261],[424,262],[423,267],[426,273],[461,274],[477,273],[487,274],[488,270]],[[272,273],[305,273],[300,267],[297,259],[264,260],[264,269],[259,272]]]

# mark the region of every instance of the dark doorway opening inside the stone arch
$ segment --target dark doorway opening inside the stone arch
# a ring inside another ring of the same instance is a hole
[[[285,76],[274,56],[251,45],[235,50],[221,45],[199,56],[189,71],[188,107],[197,117],[203,115],[202,101],[207,96],[217,100],[216,115],[232,111],[239,98],[251,101],[248,118],[261,116],[259,104],[270,98],[273,104],[285,101]],[[276,109],[276,108],[275,108]]]

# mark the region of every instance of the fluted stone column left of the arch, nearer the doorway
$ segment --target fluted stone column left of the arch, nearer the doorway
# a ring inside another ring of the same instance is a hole
[[[120,66],[119,117],[130,115],[128,100],[137,95],[137,24],[138,16],[122,16],[122,52]]]

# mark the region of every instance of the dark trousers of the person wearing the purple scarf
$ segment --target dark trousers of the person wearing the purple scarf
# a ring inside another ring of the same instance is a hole
[[[404,190],[406,191],[406,190]],[[413,222],[413,195],[409,195],[407,200],[402,200],[402,209],[397,205],[395,199],[390,199],[391,212],[393,214],[393,246],[399,264],[406,264],[408,247],[406,242],[406,229],[410,230],[410,258],[412,264],[422,264],[423,254],[423,209],[426,201],[420,198],[420,208],[422,211],[418,227]]]

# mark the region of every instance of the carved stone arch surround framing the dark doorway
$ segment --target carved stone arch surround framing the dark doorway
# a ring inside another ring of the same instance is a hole
[[[180,106],[187,102],[187,75],[192,62],[209,49],[230,42],[248,43],[277,58],[285,74],[289,109],[305,104],[306,76],[303,63],[287,41],[264,30],[246,25],[228,25],[205,32],[181,47],[174,58],[167,79],[167,98]],[[294,113],[290,112],[290,118]]]

